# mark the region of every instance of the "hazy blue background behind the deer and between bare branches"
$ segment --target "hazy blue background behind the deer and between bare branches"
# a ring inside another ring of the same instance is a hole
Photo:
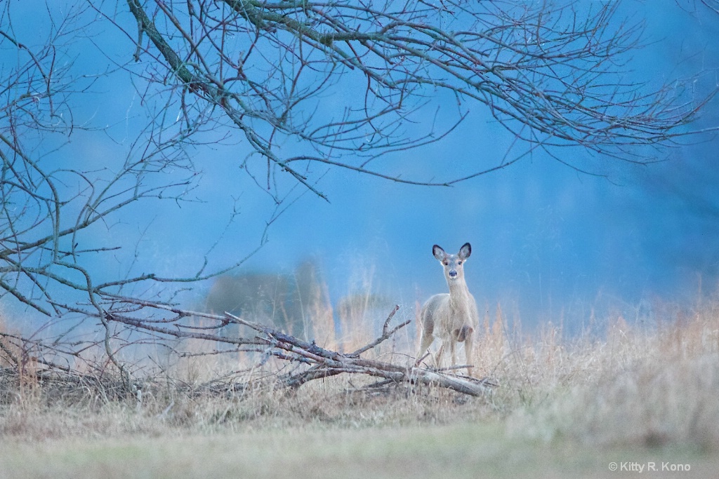
[[[646,18],[654,42],[631,62],[636,80],[656,86],[703,71],[693,85],[695,98],[716,87],[719,16],[704,10],[697,17],[669,2],[631,3],[631,9]],[[132,55],[127,39],[96,42],[104,42],[109,55]],[[97,61],[83,56],[91,53],[78,55],[78,68]],[[102,80],[94,91],[99,103],[78,103],[75,113],[96,124],[112,124],[117,112],[139,101],[127,80]],[[693,127],[719,126],[718,106],[710,103]],[[444,141],[388,158],[384,171],[449,180],[500,163],[513,138],[483,106],[471,110]],[[112,128],[116,140],[128,127]],[[562,321],[570,331],[592,311],[600,319],[644,319],[657,302],[691,307],[700,294],[717,289],[719,140],[703,136],[692,144],[697,140],[687,138],[667,161],[649,166],[582,156],[578,149],[555,151],[597,176],[542,153],[454,187],[400,185],[331,169],[318,185],[329,203],[307,192],[266,230],[275,205],[239,167],[247,154],[242,141],[198,147],[191,152],[202,172],[193,192],[198,202],[127,208],[107,232],[130,245],[127,256],[94,266],[106,277],[121,274],[137,243],[142,271],[189,275],[218,237],[211,264],[219,266],[246,256],[266,235],[237,273],[291,274],[300,261],[313,259],[332,302],[369,283],[413,315],[416,301],[446,289],[431,246],[456,252],[469,241],[467,282],[480,310],[493,315],[499,302],[524,325]],[[126,153],[122,144],[78,132],[50,161],[87,166]],[[257,171],[261,176],[262,168]],[[233,207],[239,215],[226,228]],[[186,297],[188,304],[200,302],[210,286]]]

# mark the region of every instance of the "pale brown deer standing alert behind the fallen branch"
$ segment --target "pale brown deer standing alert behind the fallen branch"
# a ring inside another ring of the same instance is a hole
[[[422,306],[422,333],[415,366],[419,366],[434,338],[441,340],[435,365],[439,367],[442,355],[449,348],[452,366],[457,366],[457,343],[463,342],[464,353],[467,355],[467,373],[472,376],[472,338],[480,320],[477,302],[464,280],[464,262],[472,254],[472,245],[464,243],[457,254],[446,254],[444,249],[434,245],[432,254],[444,268],[449,293],[435,294]]]

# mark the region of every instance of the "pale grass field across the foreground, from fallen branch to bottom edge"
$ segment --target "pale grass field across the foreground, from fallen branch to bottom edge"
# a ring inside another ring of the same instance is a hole
[[[717,477],[716,304],[594,339],[489,323],[477,365],[500,386],[480,397],[345,375],[241,395],[168,383],[138,407],[6,368],[0,478]]]

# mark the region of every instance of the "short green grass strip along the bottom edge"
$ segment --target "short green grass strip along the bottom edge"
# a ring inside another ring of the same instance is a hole
[[[234,434],[0,443],[0,478],[624,478],[609,464],[689,464],[709,478],[719,457],[692,448],[579,447],[507,437],[500,424],[273,429]],[[653,477],[644,473],[641,477]]]

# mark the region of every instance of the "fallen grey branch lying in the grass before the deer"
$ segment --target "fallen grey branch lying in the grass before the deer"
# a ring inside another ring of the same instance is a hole
[[[255,366],[252,366],[249,370],[257,368],[257,366],[265,365],[270,357],[275,358],[275,360],[280,361],[282,364],[296,363],[298,368],[290,373],[280,374],[279,370],[275,373],[270,373],[274,383],[280,387],[296,388],[308,381],[343,373],[372,376],[379,378],[380,382],[391,381],[393,383],[434,385],[472,396],[479,396],[484,394],[488,389],[497,386],[497,384],[489,378],[477,379],[468,376],[458,376],[450,373],[450,370],[447,369],[436,370],[419,365],[406,366],[363,358],[363,354],[377,348],[377,346],[392,338],[396,332],[411,322],[411,320],[406,320],[394,327],[391,326],[395,313],[399,310],[398,306],[395,306],[388,315],[384,322],[382,333],[378,338],[351,353],[339,353],[334,350],[322,348],[314,341],[308,342],[301,340],[274,327],[244,320],[242,317],[232,315],[229,312],[225,312],[224,315],[212,315],[205,312],[182,310],[168,304],[155,304],[137,299],[118,297],[108,299],[109,302],[106,304],[106,313],[103,318],[106,322],[122,324],[133,330],[144,332],[150,335],[151,341],[166,345],[171,350],[175,349],[166,341],[170,338],[180,340],[196,339],[233,345],[234,348],[227,350],[226,353],[244,351],[261,355],[261,358]],[[113,307],[113,303],[117,301],[124,304],[122,309]],[[139,310],[128,309],[127,304],[135,304],[140,308],[149,308],[156,312],[162,312],[162,315],[160,315],[160,317],[152,317],[152,319],[140,317],[137,315]],[[77,312],[82,312],[89,317],[98,316],[98,313],[93,310],[77,310]],[[214,321],[214,331],[211,325],[193,326],[188,324],[188,322],[186,322],[186,318],[188,317],[203,317]],[[255,334],[236,337],[220,335],[220,328],[230,323],[249,327]],[[135,343],[137,343],[137,341]],[[56,350],[56,352],[59,351]],[[203,353],[182,353],[175,350],[175,353],[177,353],[179,357],[185,357],[189,355],[215,355],[221,354],[223,351],[213,349]],[[52,366],[52,364],[45,365],[45,367],[50,369],[59,369],[53,368]],[[454,371],[454,369],[452,369],[452,371]],[[255,381],[256,379],[257,378],[247,379],[247,381]],[[250,382],[234,383],[231,386],[231,390],[242,391],[249,385]]]

